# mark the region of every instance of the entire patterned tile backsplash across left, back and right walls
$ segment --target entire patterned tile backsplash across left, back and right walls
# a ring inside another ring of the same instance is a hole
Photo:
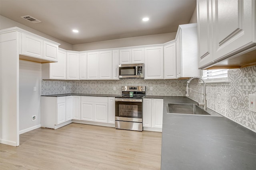
[[[256,94],[256,66],[228,71],[230,83],[206,84],[208,107],[256,132],[256,113],[248,110],[248,94]],[[121,86],[146,86],[146,95],[185,96],[187,80],[42,80],[41,94],[121,94]],[[64,90],[63,87],[66,87]],[[114,89],[116,87],[116,90]],[[150,90],[152,87],[153,90]],[[189,87],[203,92],[194,79]],[[189,91],[189,98],[202,102],[203,96]]]

